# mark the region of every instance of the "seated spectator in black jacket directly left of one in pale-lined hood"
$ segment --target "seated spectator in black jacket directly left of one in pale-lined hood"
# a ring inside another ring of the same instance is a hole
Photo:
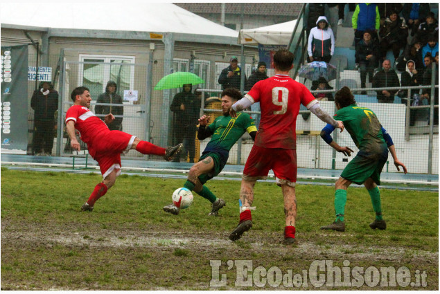
[[[373,88],[387,88],[401,86],[398,80],[397,73],[394,69],[391,69],[391,62],[389,59],[385,59],[382,63],[382,69],[374,75]],[[397,90],[380,90],[378,93],[379,103],[393,103],[394,94]]]

